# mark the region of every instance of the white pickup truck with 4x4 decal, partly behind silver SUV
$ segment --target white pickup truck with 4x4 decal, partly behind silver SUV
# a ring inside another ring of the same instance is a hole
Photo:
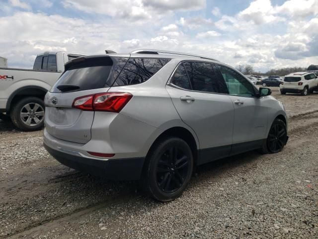
[[[36,57],[33,70],[0,68],[0,119],[11,119],[25,131],[42,128],[45,94],[64,72],[65,63],[81,56],[44,52]]]

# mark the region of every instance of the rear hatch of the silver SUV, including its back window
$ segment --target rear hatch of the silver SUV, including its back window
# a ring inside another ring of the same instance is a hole
[[[77,98],[109,90],[129,57],[87,56],[65,65],[45,97],[45,127],[52,136],[77,143],[91,139],[93,111],[73,107]]]

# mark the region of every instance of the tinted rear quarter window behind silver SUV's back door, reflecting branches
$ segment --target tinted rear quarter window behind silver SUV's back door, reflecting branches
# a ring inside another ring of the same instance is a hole
[[[156,74],[170,59],[130,58],[113,86],[140,84]]]

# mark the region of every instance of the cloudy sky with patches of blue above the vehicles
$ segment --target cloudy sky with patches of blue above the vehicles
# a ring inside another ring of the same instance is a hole
[[[232,66],[318,65],[318,0],[0,0],[0,56],[166,49]]]

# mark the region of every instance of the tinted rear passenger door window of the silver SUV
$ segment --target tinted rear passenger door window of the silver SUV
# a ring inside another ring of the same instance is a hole
[[[218,78],[210,63],[185,62],[183,63],[189,76],[192,90],[228,93],[226,85],[218,81]]]

